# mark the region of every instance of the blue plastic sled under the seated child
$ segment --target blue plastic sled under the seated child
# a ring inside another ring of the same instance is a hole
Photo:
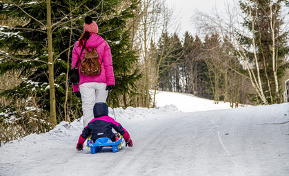
[[[94,143],[91,143],[92,140],[88,140],[87,145],[90,147],[90,153],[94,154],[99,151],[101,151],[101,148],[103,146],[111,146],[112,147],[112,152],[118,152],[119,149],[121,148],[121,144],[124,144],[124,139],[121,136],[119,140],[116,142],[112,142],[110,138],[108,137],[101,137],[98,138]]]

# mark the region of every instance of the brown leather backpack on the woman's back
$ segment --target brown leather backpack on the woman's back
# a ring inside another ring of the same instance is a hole
[[[92,50],[89,52],[89,48]],[[86,53],[80,63],[80,72],[83,75],[93,76],[100,74],[101,64],[99,63],[99,54],[97,52],[97,47],[89,46],[86,48]]]

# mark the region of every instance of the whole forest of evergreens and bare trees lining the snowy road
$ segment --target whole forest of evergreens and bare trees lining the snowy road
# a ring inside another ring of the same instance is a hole
[[[81,117],[68,72],[87,15],[111,47],[109,107],[153,108],[157,91],[231,107],[286,102],[288,9],[286,0],[242,0],[192,12],[198,32],[180,35],[166,0],[2,0],[0,145]]]

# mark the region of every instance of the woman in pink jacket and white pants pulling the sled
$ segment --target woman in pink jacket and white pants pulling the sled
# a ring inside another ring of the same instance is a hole
[[[85,54],[86,47],[97,47],[99,53],[99,63],[101,64],[101,73],[94,76],[86,76],[79,71],[79,84],[72,85],[75,95],[81,96],[83,111],[83,126],[86,126],[93,117],[93,105],[96,102],[106,102],[108,91],[114,89],[115,81],[112,67],[112,56],[110,46],[104,39],[97,35],[99,28],[92,17],[87,16],[84,19],[83,34],[77,41],[72,51],[72,64],[75,67],[78,59],[78,68]],[[83,48],[83,45],[84,48]],[[83,52],[81,50],[83,48]],[[79,69],[80,70],[80,69]]]

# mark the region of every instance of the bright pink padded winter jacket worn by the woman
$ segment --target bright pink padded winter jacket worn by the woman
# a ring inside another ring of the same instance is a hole
[[[94,76],[86,76],[80,73],[79,69],[79,85],[83,83],[90,82],[98,82],[98,83],[106,83],[106,85],[114,85],[114,74],[112,67],[112,56],[110,52],[110,46],[104,39],[97,35],[91,34],[90,38],[86,42],[86,47],[92,46],[97,47],[97,52],[99,53],[99,63],[101,64],[101,73]],[[73,68],[77,64],[77,60],[79,58],[79,54],[81,52],[82,46],[79,46],[79,41],[77,41],[73,47],[72,51],[72,63],[71,68]],[[80,61],[86,52],[86,49],[83,50]],[[78,67],[80,67],[80,61]],[[79,85],[72,85],[73,91],[79,91]]]

